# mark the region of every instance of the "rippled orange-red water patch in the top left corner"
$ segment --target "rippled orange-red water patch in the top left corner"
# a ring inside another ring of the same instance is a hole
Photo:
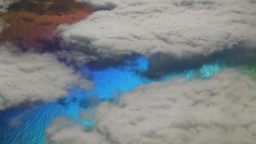
[[[0,17],[9,26],[0,33],[0,41],[10,41],[22,49],[30,47],[52,51],[60,48],[53,37],[57,26],[78,22],[90,14],[88,5],[74,0],[24,0],[10,5]]]

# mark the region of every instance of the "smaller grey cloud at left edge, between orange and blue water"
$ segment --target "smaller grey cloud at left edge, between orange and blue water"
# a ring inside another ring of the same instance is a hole
[[[13,46],[0,46],[0,110],[67,96],[73,86],[91,88],[89,80],[49,53],[21,53]]]

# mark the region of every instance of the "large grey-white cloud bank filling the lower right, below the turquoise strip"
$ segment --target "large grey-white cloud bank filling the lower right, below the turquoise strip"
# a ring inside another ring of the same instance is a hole
[[[255,87],[255,80],[231,69],[206,80],[154,82],[121,95],[118,104],[97,106],[91,132],[59,117],[46,136],[54,143],[252,144]]]

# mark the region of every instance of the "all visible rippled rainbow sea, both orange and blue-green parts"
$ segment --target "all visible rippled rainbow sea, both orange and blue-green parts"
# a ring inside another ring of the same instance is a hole
[[[11,5],[7,13],[0,14],[10,25],[0,34],[0,41],[10,41],[22,50],[31,47],[37,47],[39,51],[65,49],[65,46],[61,45],[61,37],[53,33],[56,27],[63,23],[72,24],[83,20],[90,13],[88,5],[78,4],[72,0],[20,1]],[[166,81],[176,76],[185,77],[188,81],[207,79],[227,67],[235,68],[256,79],[254,63],[230,64],[226,57],[218,57],[199,68],[168,71],[158,79],[150,79],[143,75],[148,70],[148,63],[147,57],[138,55],[105,69],[92,69],[84,65],[77,73],[92,80],[93,89],[85,91],[73,88],[69,89],[66,98],[52,103],[0,111],[0,143],[44,143],[45,128],[51,119],[60,115],[74,119],[90,129],[94,125],[93,120],[85,121],[80,118],[80,111],[101,101],[115,101],[122,93],[150,82]]]

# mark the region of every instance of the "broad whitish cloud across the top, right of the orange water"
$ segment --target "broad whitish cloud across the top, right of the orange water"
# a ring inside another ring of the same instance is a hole
[[[249,0],[81,1],[96,11],[57,31],[73,47],[103,57],[126,52],[208,55],[250,43],[256,32],[256,3]]]

